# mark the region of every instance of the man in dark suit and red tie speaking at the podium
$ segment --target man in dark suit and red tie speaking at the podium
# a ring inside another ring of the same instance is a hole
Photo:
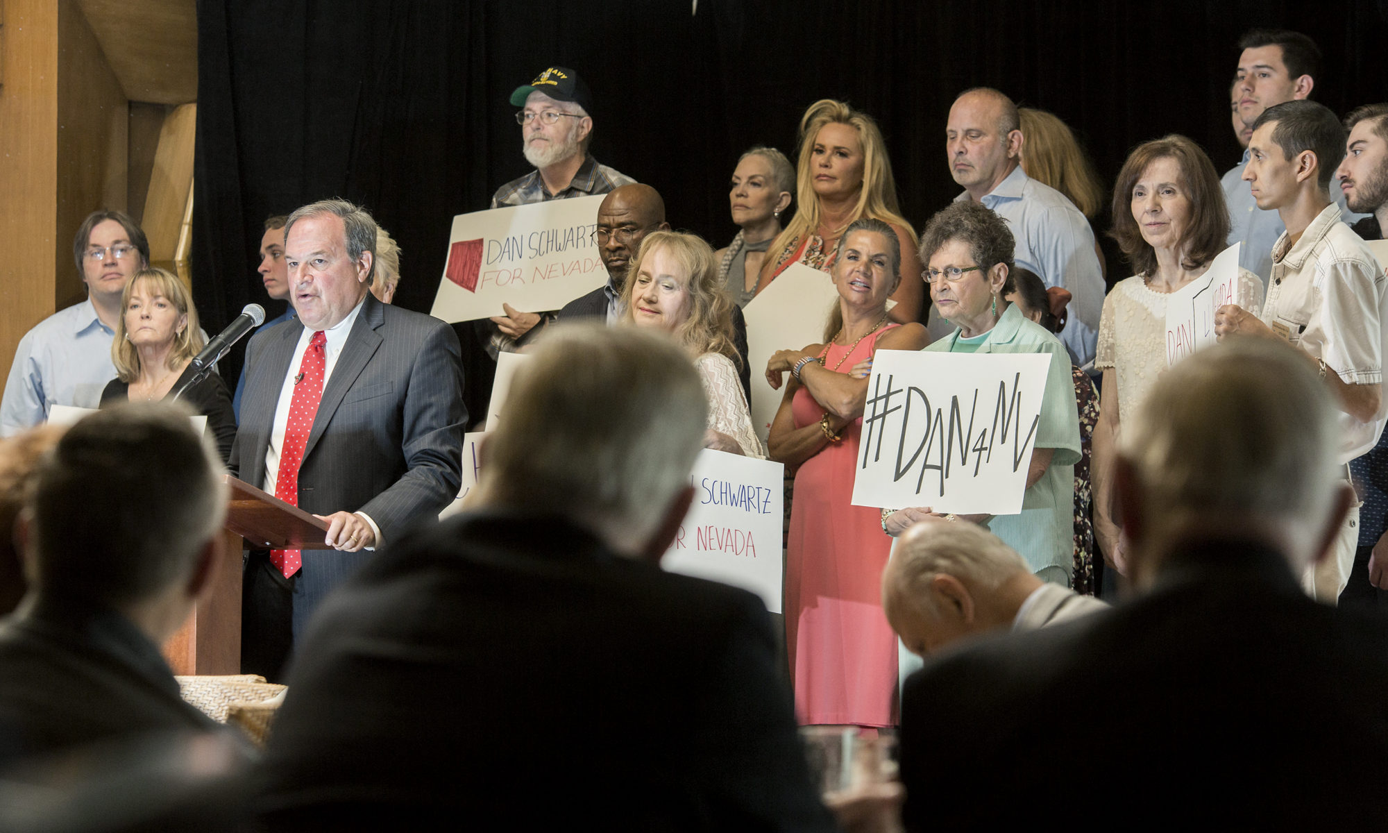
[[[462,476],[462,369],[452,329],[368,292],[376,222],[343,200],[285,224],[298,318],[246,348],[229,466],[329,523],[332,550],[253,553],[242,666],[279,676],[291,637],[335,586],[411,522],[437,516]]]

